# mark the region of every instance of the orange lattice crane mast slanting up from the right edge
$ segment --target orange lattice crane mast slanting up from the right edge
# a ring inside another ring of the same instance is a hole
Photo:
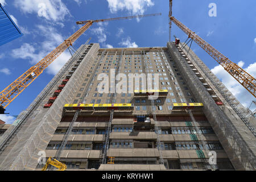
[[[193,39],[201,48],[203,48],[210,56],[213,57],[224,69],[233,76],[246,90],[248,90],[254,97],[256,89],[256,80],[253,76],[247,73],[245,70],[240,68],[236,63],[233,63],[228,57],[222,55],[217,49],[210,46],[209,43],[205,42],[204,39],[200,38],[195,32],[190,30],[184,24],[179,22],[174,16],[171,16],[171,21],[174,22],[181,30]]]

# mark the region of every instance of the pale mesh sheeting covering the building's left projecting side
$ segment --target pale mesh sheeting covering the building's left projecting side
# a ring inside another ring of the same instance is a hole
[[[81,48],[84,51],[86,47],[82,46]],[[84,61],[80,63],[75,73],[73,73],[72,77],[67,82],[67,85],[49,109],[42,108],[43,104],[46,104],[49,99],[48,95],[51,95],[56,89],[56,86],[61,83],[61,78],[68,75],[69,69],[79,60],[79,56],[71,59],[72,64],[68,65],[68,69],[64,72],[60,71],[47,85],[47,87],[52,87],[49,92],[47,89],[44,89],[43,92],[40,93],[43,95],[43,98],[39,98],[40,101],[36,102],[36,106],[28,107],[28,115],[23,119],[22,126],[0,155],[1,170],[33,170],[36,168],[39,158],[38,152],[46,150],[61,120],[64,104],[73,102],[72,96],[85,77],[86,72],[84,72],[84,70],[89,69],[90,64],[88,63],[92,63],[92,60],[97,55],[98,49],[98,44],[94,44],[92,48],[90,48]],[[57,77],[58,75],[60,77]],[[38,97],[40,97],[40,95]]]

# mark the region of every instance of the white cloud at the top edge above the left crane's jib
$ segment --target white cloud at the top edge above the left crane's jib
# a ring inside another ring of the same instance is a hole
[[[151,0],[106,0],[111,13],[127,10],[131,14],[143,14],[146,7],[154,6]]]

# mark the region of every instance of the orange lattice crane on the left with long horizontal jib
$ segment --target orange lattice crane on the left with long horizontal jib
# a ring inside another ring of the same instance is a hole
[[[85,25],[81,27],[75,34],[71,35],[67,40],[64,40],[60,46],[56,47],[52,52],[50,52],[46,57],[40,60],[36,65],[28,69],[19,78],[17,78],[13,83],[7,86],[2,92],[0,92],[0,107],[6,108],[32,81],[35,80],[49,64],[51,64],[61,53],[65,51],[69,46],[78,39],[93,22],[106,22],[110,20],[121,20],[121,19],[131,19],[131,18],[143,18],[146,16],[156,16],[161,14],[149,14],[149,15],[137,15],[137,16],[126,16],[121,18],[110,18],[101,20],[87,20]],[[79,23],[84,24],[84,23]],[[1,109],[1,108],[0,108]]]

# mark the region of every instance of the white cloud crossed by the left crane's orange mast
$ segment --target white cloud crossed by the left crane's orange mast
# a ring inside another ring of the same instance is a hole
[[[45,41],[39,44],[23,43],[20,48],[12,51],[11,56],[16,59],[27,59],[34,65],[64,41],[63,36],[53,27],[38,25],[37,28],[37,33],[44,36]],[[68,51],[61,53],[61,55],[47,67],[46,72],[55,75],[60,68],[67,63],[70,57],[71,55]]]

